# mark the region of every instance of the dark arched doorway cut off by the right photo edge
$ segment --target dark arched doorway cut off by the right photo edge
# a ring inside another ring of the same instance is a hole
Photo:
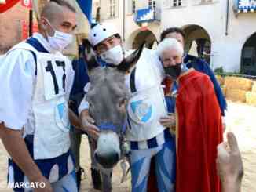
[[[252,34],[243,45],[240,72],[256,75],[256,33]]]

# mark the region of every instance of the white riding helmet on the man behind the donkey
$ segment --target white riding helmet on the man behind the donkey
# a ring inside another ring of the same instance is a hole
[[[104,41],[115,34],[119,34],[119,31],[115,28],[115,25],[109,23],[97,24],[94,26],[89,33],[89,42],[93,46]]]

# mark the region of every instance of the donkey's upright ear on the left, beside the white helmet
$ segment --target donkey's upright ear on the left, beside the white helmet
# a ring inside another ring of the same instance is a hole
[[[88,39],[82,41],[82,58],[86,62],[86,67],[88,71],[91,71],[93,68],[99,67],[100,64],[97,62],[97,57],[93,51],[93,46],[90,45]]]

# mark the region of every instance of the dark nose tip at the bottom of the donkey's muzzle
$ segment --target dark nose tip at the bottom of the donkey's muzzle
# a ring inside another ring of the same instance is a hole
[[[113,168],[119,161],[119,154],[118,153],[111,153],[111,154],[94,154],[97,163],[99,163],[103,168]]]

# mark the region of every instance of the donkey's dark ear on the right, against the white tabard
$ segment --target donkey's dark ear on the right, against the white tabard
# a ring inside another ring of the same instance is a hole
[[[140,59],[141,57],[141,53],[144,49],[144,45],[145,42],[142,43],[142,45],[139,47],[139,49],[137,49],[136,51],[134,51],[132,54],[130,54],[130,56],[127,56],[122,63],[119,64],[119,66],[117,67],[117,69],[119,71],[129,71],[131,67],[133,67],[137,61]]]

